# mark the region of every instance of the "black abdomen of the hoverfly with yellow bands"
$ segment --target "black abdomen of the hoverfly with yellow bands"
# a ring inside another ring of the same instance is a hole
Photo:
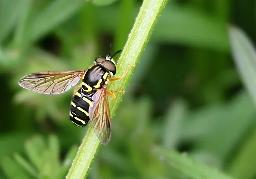
[[[89,119],[89,107],[92,107],[91,97],[94,93],[84,94],[81,88],[76,92],[71,101],[70,120],[76,126],[85,126]]]

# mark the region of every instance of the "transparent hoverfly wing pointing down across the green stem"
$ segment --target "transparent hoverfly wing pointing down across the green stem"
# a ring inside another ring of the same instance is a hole
[[[93,105],[89,107],[91,125],[99,140],[107,145],[111,138],[111,117],[106,88],[97,91],[92,100]]]

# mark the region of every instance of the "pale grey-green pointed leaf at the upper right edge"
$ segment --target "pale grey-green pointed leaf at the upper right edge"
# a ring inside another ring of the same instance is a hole
[[[256,105],[256,51],[246,34],[237,27],[229,27],[232,54],[241,78]]]

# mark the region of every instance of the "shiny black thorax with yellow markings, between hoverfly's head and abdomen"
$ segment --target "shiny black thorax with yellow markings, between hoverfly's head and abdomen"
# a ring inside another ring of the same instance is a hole
[[[91,92],[95,88],[102,88],[108,84],[109,73],[101,65],[94,65],[84,74],[81,87],[82,91]]]

